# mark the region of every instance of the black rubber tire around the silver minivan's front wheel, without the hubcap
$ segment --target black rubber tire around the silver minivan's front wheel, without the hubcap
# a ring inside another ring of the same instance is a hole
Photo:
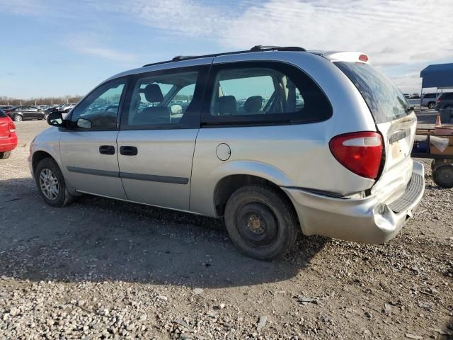
[[[42,172],[46,170],[52,172],[58,184],[58,193],[55,195],[55,198],[47,197],[44,189],[41,187],[42,183],[40,183],[40,176]],[[74,196],[69,193],[66,183],[64,183],[62,171],[60,171],[57,163],[51,158],[42,159],[42,161],[38,163],[35,170],[35,182],[42,199],[44,199],[45,203],[48,205],[52,205],[52,207],[62,208],[71,203],[74,199]]]

